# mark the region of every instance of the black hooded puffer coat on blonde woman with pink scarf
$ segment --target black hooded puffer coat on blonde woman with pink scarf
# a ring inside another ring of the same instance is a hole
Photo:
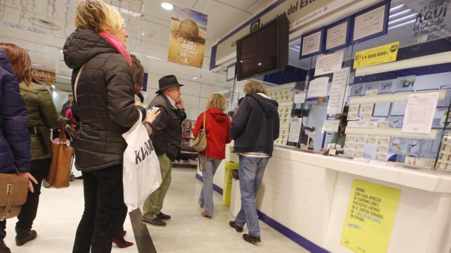
[[[73,32],[63,48],[64,60],[73,68],[72,89],[79,68],[86,63],[78,81],[77,115],[80,136],[75,148],[75,166],[81,171],[122,164],[127,147],[122,133],[139,119],[135,106],[130,67],[124,56],[97,33],[87,29]],[[74,98],[75,100],[75,98]]]

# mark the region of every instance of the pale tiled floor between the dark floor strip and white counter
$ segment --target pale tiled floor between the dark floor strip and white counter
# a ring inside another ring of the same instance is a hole
[[[222,196],[216,192],[213,219],[201,217],[202,209],[197,204],[201,182],[194,178],[194,173],[193,169],[173,170],[162,210],[173,218],[167,227],[149,226],[157,252],[309,252],[261,221],[262,242],[257,245],[245,242],[242,233],[229,226],[233,219],[229,206],[221,205]]]

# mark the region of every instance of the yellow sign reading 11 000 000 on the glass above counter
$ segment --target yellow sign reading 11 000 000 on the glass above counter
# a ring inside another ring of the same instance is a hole
[[[354,68],[377,65],[396,61],[398,56],[399,41],[381,45],[376,48],[359,51],[354,58]]]

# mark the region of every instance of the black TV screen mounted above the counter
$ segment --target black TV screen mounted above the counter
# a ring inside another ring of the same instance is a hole
[[[289,21],[279,15],[236,42],[238,81],[281,71],[288,64]]]

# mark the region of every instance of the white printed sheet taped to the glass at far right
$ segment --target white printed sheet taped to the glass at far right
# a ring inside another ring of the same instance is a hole
[[[410,95],[405,109],[402,132],[429,134],[438,100],[438,92]]]

